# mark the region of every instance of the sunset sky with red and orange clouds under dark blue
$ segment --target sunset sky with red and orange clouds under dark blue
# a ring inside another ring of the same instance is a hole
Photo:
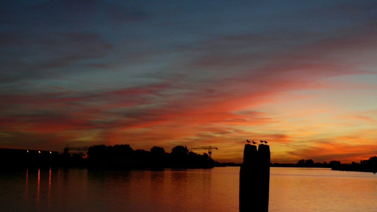
[[[239,163],[246,139],[273,163],[377,155],[376,1],[0,2],[0,147]]]

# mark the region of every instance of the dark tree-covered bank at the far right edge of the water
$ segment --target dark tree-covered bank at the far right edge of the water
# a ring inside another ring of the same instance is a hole
[[[360,163],[352,162],[351,164],[342,164],[340,161],[330,161],[332,170],[337,171],[356,171],[356,172],[377,172],[377,156],[368,160],[361,160]]]

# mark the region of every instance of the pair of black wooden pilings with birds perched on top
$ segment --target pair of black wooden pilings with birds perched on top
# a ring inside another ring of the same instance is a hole
[[[246,144],[239,171],[239,212],[268,212],[270,146]]]

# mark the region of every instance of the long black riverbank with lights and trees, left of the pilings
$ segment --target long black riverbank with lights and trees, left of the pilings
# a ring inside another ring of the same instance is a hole
[[[214,167],[208,154],[189,151],[185,146],[176,146],[170,153],[154,146],[150,151],[133,150],[128,144],[88,148],[87,158],[80,154],[26,149],[0,149],[2,167],[88,167],[90,169],[194,169]]]

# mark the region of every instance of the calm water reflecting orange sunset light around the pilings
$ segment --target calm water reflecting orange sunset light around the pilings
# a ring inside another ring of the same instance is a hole
[[[238,181],[239,167],[2,172],[0,210],[237,212]],[[272,167],[269,211],[377,211],[377,174]]]

